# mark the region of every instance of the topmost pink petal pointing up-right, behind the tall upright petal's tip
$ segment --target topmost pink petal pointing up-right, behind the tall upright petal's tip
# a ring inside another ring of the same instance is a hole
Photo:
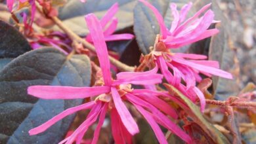
[[[102,27],[105,27],[106,24],[108,24],[108,22],[110,22],[110,20],[114,18],[117,11],[118,11],[118,3],[115,3],[114,5],[112,5],[112,7],[110,7],[110,9],[108,9],[106,14],[104,14],[104,16],[101,18],[100,25]]]

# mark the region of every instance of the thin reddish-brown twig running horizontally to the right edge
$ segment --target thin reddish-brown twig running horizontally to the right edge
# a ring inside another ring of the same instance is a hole
[[[251,101],[218,101],[218,100],[213,100],[213,99],[206,99],[207,104],[211,105],[220,105],[223,107],[226,106],[232,106],[232,107],[256,107],[256,102],[251,102]]]

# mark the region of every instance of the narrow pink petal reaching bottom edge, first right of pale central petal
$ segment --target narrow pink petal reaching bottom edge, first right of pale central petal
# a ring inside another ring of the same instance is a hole
[[[148,111],[144,110],[140,105],[136,105],[135,107],[137,110],[143,115],[143,117],[146,119],[148,124],[150,124],[152,130],[154,131],[154,134],[156,135],[158,141],[161,144],[167,144],[167,140],[165,139],[165,135],[163,135],[163,132],[161,131],[161,128],[158,126],[154,118],[148,113]]]

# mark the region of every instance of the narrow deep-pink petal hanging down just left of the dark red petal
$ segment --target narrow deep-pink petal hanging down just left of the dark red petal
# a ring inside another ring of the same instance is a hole
[[[91,142],[92,144],[96,144],[98,141],[98,136],[100,135],[100,128],[102,127],[102,125],[104,123],[104,119],[105,119],[107,110],[108,110],[108,103],[105,103],[102,108],[102,111],[100,113],[100,118],[98,120],[98,125],[95,129],[95,134],[93,135],[93,141]]]

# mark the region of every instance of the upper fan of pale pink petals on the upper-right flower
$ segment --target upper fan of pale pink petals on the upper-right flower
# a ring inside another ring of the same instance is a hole
[[[170,7],[174,19],[171,24],[171,28],[167,29],[160,12],[158,12],[158,10],[147,1],[139,1],[152,9],[156,15],[156,19],[160,24],[160,41],[163,41],[167,48],[180,48],[181,46],[200,41],[207,37],[211,37],[211,35],[215,35],[219,32],[218,29],[208,29],[211,24],[217,22],[213,19],[213,11],[207,10],[211,6],[211,3],[205,5],[202,9],[198,10],[194,16],[188,18],[187,20],[186,16],[192,7],[192,3],[184,5],[180,13],[177,10],[177,5],[175,3],[171,3]],[[205,12],[205,10],[207,11]],[[199,18],[203,12],[205,12],[205,14]]]

